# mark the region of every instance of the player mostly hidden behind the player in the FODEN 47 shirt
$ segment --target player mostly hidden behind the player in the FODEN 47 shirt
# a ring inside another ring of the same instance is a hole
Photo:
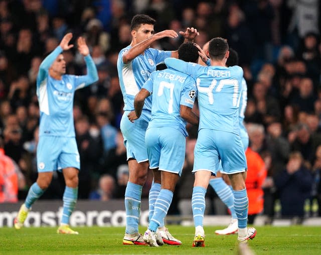
[[[202,52],[202,63],[206,62],[208,60],[205,51],[208,50],[209,42],[206,43],[203,47]],[[238,54],[235,50],[229,49],[229,58],[226,61],[227,66],[234,66],[238,65]],[[210,61],[208,61],[210,62]],[[209,63],[210,65],[210,63]],[[240,137],[242,140],[244,151],[246,151],[248,145],[249,145],[249,136],[246,131],[246,128],[244,126],[244,113],[246,109],[246,103],[247,103],[247,84],[244,78],[242,78],[242,87],[241,87],[241,99],[240,99],[240,105],[239,105],[239,126],[240,126]],[[223,174],[224,170],[222,169],[222,164],[220,163],[219,171],[216,173],[216,177],[211,176],[210,185],[215,190],[218,197],[223,201],[223,203],[227,206],[227,208],[230,209],[232,218],[230,224],[224,228],[216,230],[216,234],[233,234],[237,233],[238,231],[238,223],[237,223],[237,216],[234,210],[234,196],[233,192],[228,184],[230,184],[229,180],[226,179],[226,174]],[[224,178],[224,179],[223,179]]]

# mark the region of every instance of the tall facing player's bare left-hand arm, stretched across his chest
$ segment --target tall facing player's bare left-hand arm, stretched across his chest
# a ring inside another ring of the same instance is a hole
[[[164,30],[162,32],[158,32],[146,40],[137,43],[133,47],[131,47],[128,51],[126,51],[123,56],[122,56],[122,61],[127,64],[131,60],[133,60],[135,57],[140,55],[141,53],[144,52],[145,49],[147,49],[150,44],[156,40],[162,39],[164,37],[170,37],[170,38],[175,38],[178,37],[178,34],[174,30]]]

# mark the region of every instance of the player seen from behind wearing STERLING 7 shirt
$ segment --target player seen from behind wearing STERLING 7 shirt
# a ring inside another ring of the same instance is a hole
[[[180,46],[179,58],[194,62],[198,60],[198,48],[193,43]],[[149,246],[158,246],[156,234],[159,225],[172,203],[176,183],[182,174],[185,159],[186,121],[198,125],[199,117],[193,112],[197,89],[195,79],[190,75],[168,68],[154,71],[136,95],[134,107],[139,117],[145,99],[152,95],[151,120],[145,134],[149,167],[161,172],[161,192],[149,220],[143,239]],[[129,116],[130,121],[134,118]],[[162,242],[160,242],[162,244]]]

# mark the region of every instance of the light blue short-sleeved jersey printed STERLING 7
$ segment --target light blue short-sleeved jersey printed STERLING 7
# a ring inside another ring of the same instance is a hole
[[[168,68],[151,73],[143,89],[151,93],[149,127],[173,127],[185,136],[186,121],[180,115],[181,105],[193,108],[197,96],[196,81],[190,75]]]

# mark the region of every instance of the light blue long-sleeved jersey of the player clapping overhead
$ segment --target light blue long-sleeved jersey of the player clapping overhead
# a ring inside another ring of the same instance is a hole
[[[37,97],[40,109],[39,136],[75,137],[73,100],[75,90],[98,80],[95,63],[90,55],[85,57],[87,75],[62,75],[56,80],[49,75],[49,67],[61,54],[58,46],[39,67]]]

